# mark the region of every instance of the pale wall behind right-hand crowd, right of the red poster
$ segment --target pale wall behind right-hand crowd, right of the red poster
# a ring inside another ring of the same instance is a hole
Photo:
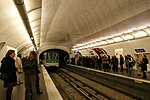
[[[103,48],[104,50],[107,51],[107,53],[110,56],[116,55],[115,50],[116,49],[123,49],[123,56],[130,54],[134,58],[136,58],[136,55],[140,55],[140,59],[142,59],[143,54],[146,54],[149,62],[150,62],[150,37],[142,38],[142,39],[137,39],[137,40],[131,40],[127,42],[120,42],[120,43],[115,43],[111,45],[106,45],[102,46],[100,48]],[[144,49],[145,52],[139,52],[137,53],[135,49]],[[117,54],[119,56],[120,54]],[[148,70],[150,71],[150,63],[148,64]]]

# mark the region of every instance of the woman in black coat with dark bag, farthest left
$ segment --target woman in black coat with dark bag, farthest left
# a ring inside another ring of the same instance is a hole
[[[8,74],[8,79],[4,80],[4,87],[7,88],[6,100],[11,100],[13,87],[16,86],[16,66],[15,66],[15,51],[8,50],[6,56],[2,59],[1,73]]]

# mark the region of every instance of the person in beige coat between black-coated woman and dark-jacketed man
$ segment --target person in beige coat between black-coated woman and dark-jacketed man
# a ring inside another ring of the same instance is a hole
[[[21,61],[21,54],[18,54],[16,57],[16,68],[17,68],[17,85],[23,83],[22,75],[23,75],[23,66]]]

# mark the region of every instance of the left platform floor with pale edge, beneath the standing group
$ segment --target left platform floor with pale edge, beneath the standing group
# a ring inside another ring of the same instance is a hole
[[[38,100],[63,100],[47,73],[43,65],[40,66],[40,90],[43,92],[38,96]],[[24,80],[24,75],[22,75]],[[25,83],[25,82],[24,82]],[[13,88],[12,100],[25,100],[25,84],[17,85]],[[6,88],[3,87],[3,81],[0,80],[0,100],[6,100]]]

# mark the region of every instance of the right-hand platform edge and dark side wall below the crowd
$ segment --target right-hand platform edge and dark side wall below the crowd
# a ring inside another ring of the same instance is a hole
[[[65,69],[75,72],[85,78],[108,86],[116,91],[121,91],[126,95],[137,98],[138,100],[150,100],[150,73],[147,72],[147,79],[143,79],[134,71],[134,75],[128,76],[126,70],[114,73],[104,72],[103,70],[92,69],[72,64],[67,64]]]

